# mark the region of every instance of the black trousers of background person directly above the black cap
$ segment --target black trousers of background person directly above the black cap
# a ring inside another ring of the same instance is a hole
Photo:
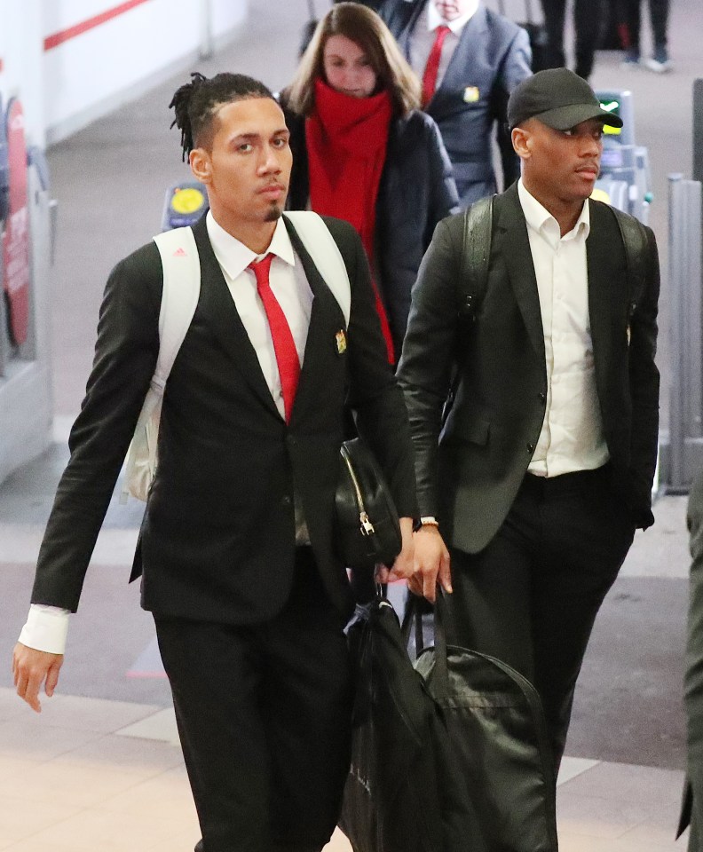
[[[566,0],[541,0],[544,26],[549,43],[550,68],[566,65],[564,52],[564,22]],[[600,37],[602,0],[574,0],[573,23],[576,31],[575,71],[584,80],[593,71],[593,61]]]

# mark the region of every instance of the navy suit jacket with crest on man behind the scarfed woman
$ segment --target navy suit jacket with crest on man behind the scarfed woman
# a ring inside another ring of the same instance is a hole
[[[410,36],[427,0],[386,0],[380,13],[406,59]],[[423,26],[421,21],[420,26]],[[511,20],[480,5],[462,36],[426,112],[438,123],[454,180],[466,207],[496,190],[491,154],[494,125],[501,150],[504,185],[519,176],[519,160],[508,130],[509,94],[532,74],[527,33]],[[423,69],[415,67],[422,76]]]

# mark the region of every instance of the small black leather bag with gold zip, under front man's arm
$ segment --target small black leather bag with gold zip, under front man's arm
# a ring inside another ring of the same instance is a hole
[[[373,571],[400,553],[398,511],[374,455],[361,438],[340,449],[336,490],[336,539],[344,564]]]

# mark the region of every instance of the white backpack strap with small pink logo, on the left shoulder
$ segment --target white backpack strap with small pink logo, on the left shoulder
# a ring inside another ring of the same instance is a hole
[[[159,233],[154,242],[162,258],[163,290],[159,312],[159,358],[152,389],[162,395],[198,306],[201,270],[192,228],[175,228]]]

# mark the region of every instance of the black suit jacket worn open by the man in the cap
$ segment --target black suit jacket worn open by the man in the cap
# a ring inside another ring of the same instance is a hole
[[[612,486],[638,526],[652,524],[659,428],[654,364],[660,278],[654,235],[649,271],[632,313],[620,229],[590,201],[588,311],[596,390],[611,456]],[[457,319],[462,217],[438,225],[413,290],[399,364],[415,440],[422,515],[440,518],[447,540],[476,553],[493,538],[525,476],[547,398],[537,281],[517,185],[496,196],[486,293],[475,323]],[[451,413],[442,424],[450,383]]]

